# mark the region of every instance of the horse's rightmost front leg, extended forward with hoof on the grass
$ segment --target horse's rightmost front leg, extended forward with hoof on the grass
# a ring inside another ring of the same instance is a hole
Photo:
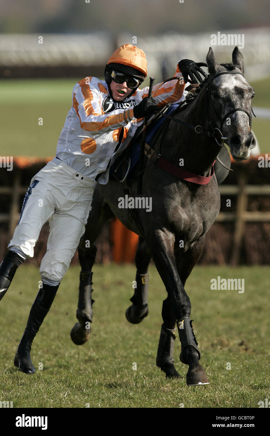
[[[199,364],[200,352],[189,318],[190,300],[179,277],[175,262],[175,235],[166,229],[156,229],[151,232],[151,235],[147,235],[147,242],[152,249],[155,266],[171,301],[171,310],[176,319],[182,346],[180,360],[189,365],[186,376],[187,385],[208,384],[206,373]]]

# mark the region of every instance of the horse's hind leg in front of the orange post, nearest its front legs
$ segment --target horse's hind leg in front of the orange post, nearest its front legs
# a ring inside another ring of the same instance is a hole
[[[143,318],[148,315],[148,265],[151,257],[152,255],[145,243],[145,239],[140,236],[135,256],[137,268],[135,291],[130,299],[132,306],[129,306],[125,312],[127,320],[132,324],[142,322]]]

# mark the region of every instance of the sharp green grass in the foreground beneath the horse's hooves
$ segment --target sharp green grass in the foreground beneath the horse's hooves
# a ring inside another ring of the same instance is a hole
[[[191,318],[209,378],[206,387],[187,387],[187,366],[175,367],[182,379],[166,380],[155,366],[166,292],[153,265],[149,269],[149,314],[141,324],[125,319],[133,295],[135,267],[94,266],[94,320],[87,344],[76,346],[79,268],[64,277],[50,313],[34,340],[34,375],[13,366],[40,279],[36,267],[17,271],[0,303],[0,401],[16,407],[84,408],[258,408],[269,398],[269,267],[196,267],[186,283]],[[210,290],[213,278],[241,278],[244,293]],[[43,370],[38,370],[42,362]],[[137,371],[132,370],[136,362]],[[227,370],[228,362],[231,369]]]

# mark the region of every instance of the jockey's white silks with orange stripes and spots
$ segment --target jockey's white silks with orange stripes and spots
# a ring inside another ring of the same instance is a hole
[[[182,77],[178,67],[175,76]],[[152,96],[158,106],[180,102],[187,93],[184,87],[184,82],[179,80],[157,84],[153,87]],[[105,81],[87,77],[76,83],[72,90],[72,106],[57,143],[56,156],[90,179],[94,180],[103,172],[98,182],[106,184],[109,160],[112,165],[142,124],[142,119],[135,123],[131,117],[133,107],[147,97],[148,89],[148,86],[138,88],[122,102],[114,102]],[[122,143],[114,153],[122,127],[125,128]]]

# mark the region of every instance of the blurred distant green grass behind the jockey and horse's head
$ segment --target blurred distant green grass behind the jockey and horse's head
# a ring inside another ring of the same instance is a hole
[[[81,78],[78,78],[80,80]],[[0,81],[1,155],[53,157],[77,79]],[[147,82],[148,83],[148,82]],[[253,82],[254,106],[270,108],[270,82]],[[43,125],[38,125],[38,119]],[[253,118],[262,153],[270,151],[269,120]]]

